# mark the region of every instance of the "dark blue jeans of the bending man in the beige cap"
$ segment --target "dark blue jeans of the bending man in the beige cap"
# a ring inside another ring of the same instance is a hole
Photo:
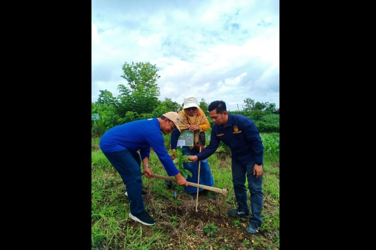
[[[103,152],[112,166],[118,171],[127,187],[130,212],[135,215],[145,210],[142,198],[141,157],[128,149],[117,152]]]

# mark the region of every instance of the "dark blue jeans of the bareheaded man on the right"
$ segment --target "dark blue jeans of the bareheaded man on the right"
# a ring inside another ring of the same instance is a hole
[[[264,165],[264,163],[262,163]],[[232,183],[234,186],[235,197],[238,202],[239,209],[245,213],[249,213],[249,207],[247,204],[247,189],[244,183],[246,182],[246,174],[248,180],[248,188],[251,194],[251,210],[252,215],[249,219],[250,223],[257,223],[258,226],[261,225],[261,210],[262,210],[262,175],[256,178],[253,175],[253,167],[255,162],[247,163],[243,165],[238,159],[232,160],[231,170],[232,170]]]

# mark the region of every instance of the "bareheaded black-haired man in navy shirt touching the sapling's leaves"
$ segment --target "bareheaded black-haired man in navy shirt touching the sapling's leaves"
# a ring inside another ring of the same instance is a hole
[[[232,183],[238,202],[237,210],[229,210],[233,217],[249,219],[249,226],[244,230],[256,234],[261,225],[262,210],[262,165],[264,146],[255,123],[244,115],[227,114],[226,103],[214,101],[208,106],[209,116],[215,123],[212,127],[211,140],[208,147],[196,156],[188,156],[195,162],[206,159],[217,150],[221,141],[231,148]],[[249,218],[247,189],[244,183],[248,180],[251,194],[251,210]]]

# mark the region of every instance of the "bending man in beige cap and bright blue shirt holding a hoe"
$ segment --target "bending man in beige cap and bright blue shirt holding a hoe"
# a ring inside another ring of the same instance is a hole
[[[155,220],[145,211],[140,165],[142,159],[145,176],[152,178],[154,173],[149,167],[150,147],[153,147],[167,174],[174,176],[177,184],[188,186],[168,155],[161,134],[161,131],[165,135],[173,132],[174,129],[180,131],[179,121],[176,112],[168,112],[159,118],[132,121],[112,127],[100,139],[100,149],[118,171],[127,187],[130,208],[128,216],[147,226],[154,225]]]

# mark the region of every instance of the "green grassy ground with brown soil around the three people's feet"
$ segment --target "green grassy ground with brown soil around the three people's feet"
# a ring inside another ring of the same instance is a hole
[[[148,227],[128,217],[130,211],[129,201],[124,195],[125,185],[99,149],[100,138],[93,138],[92,250],[279,249],[279,136],[276,133],[261,136],[268,153],[264,157],[262,183],[262,233],[256,235],[244,233],[242,228],[247,225],[246,220],[227,216],[228,209],[237,208],[228,154],[215,153],[209,157],[214,187],[229,190],[221,217],[218,217],[221,195],[217,194],[217,201],[200,198],[197,213],[196,199],[185,193],[182,199],[175,199],[174,189],[167,189],[163,180],[142,177],[143,188],[148,191],[144,198],[146,211],[158,221]],[[167,176],[153,150],[149,163],[155,174]],[[249,197],[249,191],[247,193]]]

